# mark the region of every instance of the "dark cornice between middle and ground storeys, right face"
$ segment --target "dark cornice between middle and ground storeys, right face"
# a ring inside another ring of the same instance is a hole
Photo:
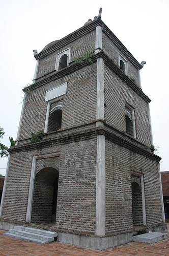
[[[123,146],[125,148],[128,148],[128,150],[131,150],[139,155],[145,156],[145,157],[155,160],[157,162],[159,162],[161,160],[161,157],[148,152],[146,149],[139,147],[138,145],[135,145],[133,142],[130,142],[130,141],[126,140],[125,138],[119,137],[117,134],[115,134],[114,132],[108,131],[106,128],[97,129],[96,134],[104,135],[105,137],[107,137],[107,139],[111,140],[112,142],[114,142],[120,146]],[[145,145],[145,148],[146,148],[146,145]]]

